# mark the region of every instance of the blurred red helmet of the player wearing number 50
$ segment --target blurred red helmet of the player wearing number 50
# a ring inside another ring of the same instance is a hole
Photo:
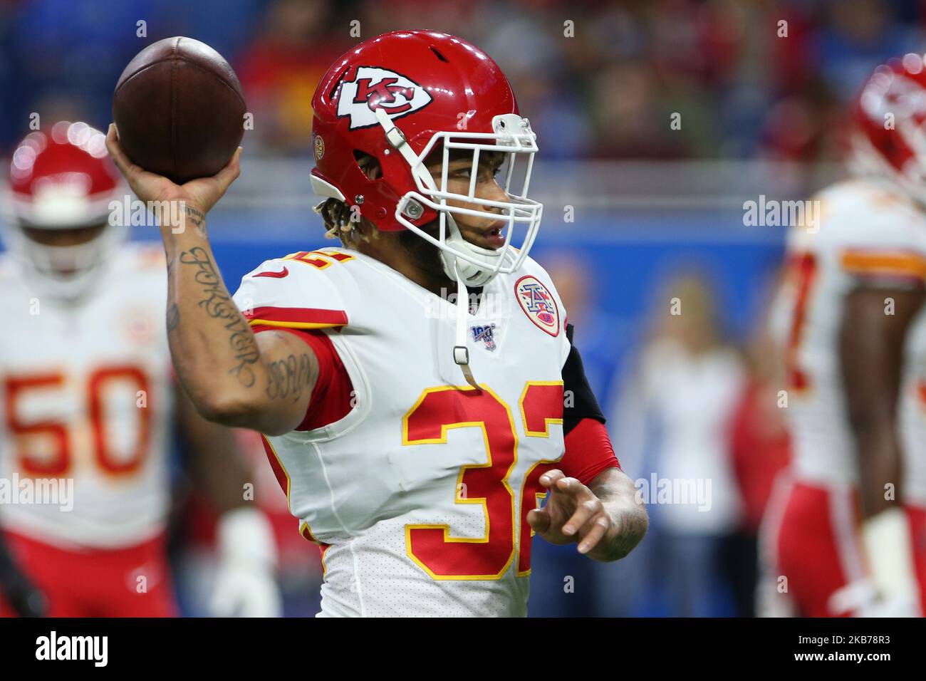
[[[50,133],[30,132],[13,152],[5,193],[4,235],[33,285],[55,298],[75,300],[125,234],[109,220],[110,203],[127,194],[106,153],[106,135],[86,123],[56,123]],[[90,241],[50,246],[31,230],[74,230],[106,225]]]

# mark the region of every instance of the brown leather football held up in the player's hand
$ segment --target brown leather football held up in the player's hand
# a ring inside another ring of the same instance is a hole
[[[228,61],[193,38],[139,52],[113,94],[119,143],[132,162],[175,183],[215,175],[244,135],[244,95]]]

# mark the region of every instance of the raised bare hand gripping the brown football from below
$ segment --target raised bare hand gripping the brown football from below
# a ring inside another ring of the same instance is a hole
[[[235,179],[241,174],[241,147],[235,151],[232,160],[222,170],[212,176],[191,180],[185,184],[175,184],[162,175],[156,175],[136,166],[122,151],[119,145],[119,132],[116,124],[109,124],[106,132],[106,148],[116,167],[125,175],[131,191],[144,202],[148,201],[184,201],[188,207],[199,210],[204,215],[218,203],[219,199]]]

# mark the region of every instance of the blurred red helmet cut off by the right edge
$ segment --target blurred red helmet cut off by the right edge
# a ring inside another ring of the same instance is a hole
[[[853,170],[926,204],[926,57],[908,54],[875,69],[852,114]]]

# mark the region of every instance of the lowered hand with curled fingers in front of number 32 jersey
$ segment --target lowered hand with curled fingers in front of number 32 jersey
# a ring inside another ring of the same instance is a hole
[[[615,531],[601,500],[575,478],[556,469],[540,476],[549,494],[543,509],[527,514],[532,530],[551,544],[579,542],[579,552],[588,553]]]

